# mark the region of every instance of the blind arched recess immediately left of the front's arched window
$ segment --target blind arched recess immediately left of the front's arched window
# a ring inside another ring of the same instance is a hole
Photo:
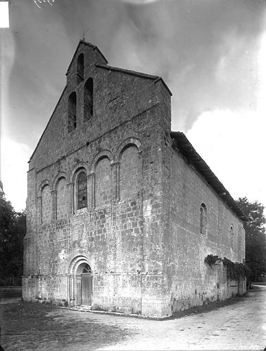
[[[68,204],[70,201],[69,194],[66,189],[66,178],[61,175],[56,182],[56,219],[61,219],[68,212]]]

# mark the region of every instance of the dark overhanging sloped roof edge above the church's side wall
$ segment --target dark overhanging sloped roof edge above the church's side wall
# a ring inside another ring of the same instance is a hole
[[[182,132],[171,132],[171,138],[173,138],[173,146],[176,147],[181,154],[186,158],[186,160],[191,163],[197,169],[197,171],[202,175],[206,182],[213,188],[215,193],[225,202],[230,210],[241,219],[241,221],[246,221],[247,217],[244,215],[242,210],[237,206],[229,191],[221,184],[217,176],[208,167],[206,162],[197,154],[194,147],[191,145],[189,140],[186,138]]]

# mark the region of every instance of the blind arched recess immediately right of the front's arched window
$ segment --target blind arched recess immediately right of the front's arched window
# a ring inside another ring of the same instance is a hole
[[[112,169],[110,158],[102,156],[95,165],[95,206],[112,201]]]

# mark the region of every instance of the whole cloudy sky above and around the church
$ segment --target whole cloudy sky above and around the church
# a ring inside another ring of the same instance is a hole
[[[11,0],[9,11],[0,32],[1,180],[16,210],[84,29],[110,65],[163,77],[172,130],[232,197],[266,206],[265,0]]]

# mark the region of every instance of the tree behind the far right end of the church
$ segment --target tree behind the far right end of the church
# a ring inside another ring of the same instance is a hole
[[[256,281],[266,274],[266,219],[264,206],[257,201],[249,202],[247,197],[239,197],[239,208],[247,217],[245,229],[245,262],[251,269],[251,280]]]

